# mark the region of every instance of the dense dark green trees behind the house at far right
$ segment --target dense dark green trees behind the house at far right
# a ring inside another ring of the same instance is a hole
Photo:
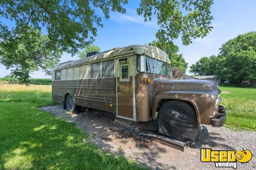
[[[196,76],[217,75],[230,85],[256,87],[256,31],[225,42],[218,56],[202,57],[190,66]]]

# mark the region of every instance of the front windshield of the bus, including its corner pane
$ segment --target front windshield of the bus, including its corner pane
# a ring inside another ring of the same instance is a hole
[[[145,72],[172,76],[172,68],[170,64],[147,56],[139,56],[137,58],[137,69],[140,73]]]

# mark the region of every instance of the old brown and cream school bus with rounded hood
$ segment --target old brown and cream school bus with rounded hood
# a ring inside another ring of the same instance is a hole
[[[52,71],[52,98],[68,111],[93,108],[134,122],[157,117],[160,133],[194,142],[200,124],[221,127],[226,121],[218,85],[173,79],[169,57],[159,48],[130,45],[87,55]]]

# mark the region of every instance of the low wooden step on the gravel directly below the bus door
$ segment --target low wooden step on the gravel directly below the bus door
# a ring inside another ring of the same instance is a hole
[[[148,122],[134,122],[134,121],[127,120],[127,119],[116,118],[111,123],[114,125],[125,127],[126,129],[128,129],[130,131],[139,132],[140,127],[143,127]]]

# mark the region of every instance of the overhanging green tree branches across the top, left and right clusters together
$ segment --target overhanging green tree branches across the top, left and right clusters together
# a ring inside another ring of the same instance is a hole
[[[20,83],[28,83],[29,72],[42,66],[49,73],[48,69],[54,63],[41,64],[44,58],[37,59],[40,62],[31,62],[29,58],[33,55],[20,48],[27,42],[23,35],[41,33],[43,29],[47,35],[41,37],[48,38],[45,51],[56,50],[57,54],[66,51],[75,55],[94,41],[97,27],[103,26],[94,9],[101,9],[108,19],[110,11],[125,13],[122,4],[127,3],[128,0],[1,0],[1,63],[7,69],[17,67],[12,74],[20,79]],[[188,45],[192,38],[203,38],[211,31],[211,5],[212,0],[141,0],[137,14],[143,15],[145,21],[151,21],[152,16],[157,15],[158,40],[172,42],[181,36],[183,44]],[[59,55],[52,56],[56,56],[56,60],[50,57],[56,63]]]

